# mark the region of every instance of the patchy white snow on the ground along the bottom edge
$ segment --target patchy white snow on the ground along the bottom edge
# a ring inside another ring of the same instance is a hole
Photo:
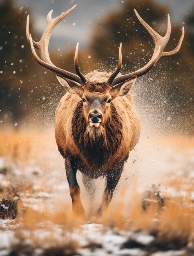
[[[58,225],[52,225],[49,223],[52,229],[46,231],[44,225],[40,229],[35,231],[34,236],[37,237],[49,237],[52,235],[58,241],[65,245],[64,240],[64,229]],[[23,242],[23,246],[33,248],[33,240],[29,238],[27,231],[24,232],[28,237]],[[186,249],[181,250],[170,250],[167,252],[158,251],[154,253],[147,253],[144,249],[146,247],[152,246],[155,238],[146,233],[134,233],[132,231],[119,231],[116,229],[105,229],[103,225],[100,224],[84,224],[80,225],[78,228],[74,229],[73,232],[66,231],[66,243],[71,243],[72,241],[78,242],[78,249],[76,252],[71,255],[82,255],[82,256],[185,256],[187,255]],[[134,248],[130,248],[133,245],[127,244],[127,241],[132,241],[134,243]],[[0,232],[0,255],[7,256],[11,252],[11,246],[17,244],[17,238],[14,236],[14,233],[11,231]],[[21,246],[21,244],[20,244]],[[44,243],[41,249],[36,248],[33,255],[44,255],[44,249],[48,249],[50,246],[49,243]],[[127,248],[128,247],[128,248]],[[65,247],[64,247],[65,248]],[[25,255],[25,254],[22,254]],[[55,254],[53,254],[55,255]],[[57,254],[56,254],[57,255]],[[70,254],[61,254],[61,255],[70,255]],[[189,254],[188,254],[189,255]]]

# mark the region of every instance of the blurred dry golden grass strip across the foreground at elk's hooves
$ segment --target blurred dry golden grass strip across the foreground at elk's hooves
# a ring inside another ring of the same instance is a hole
[[[156,236],[158,245],[163,247],[171,244],[174,248],[178,248],[184,247],[191,241],[194,242],[194,206],[189,195],[166,198],[163,209],[159,209],[158,204],[151,204],[147,211],[142,209],[141,195],[134,192],[133,197],[134,203],[128,216],[124,217],[125,204],[122,203],[111,212],[107,210],[103,216],[96,216],[93,221],[103,224],[105,230],[106,228],[116,228],[116,230],[132,230],[134,232],[145,231]],[[41,247],[43,244],[50,244],[52,247],[57,244],[59,246],[71,245],[71,249],[75,250],[79,247],[78,242],[71,239],[70,234],[80,224],[89,220],[73,215],[71,206],[60,210],[56,205],[52,214],[46,204],[43,212],[35,211],[30,207],[23,211],[22,204],[19,205],[19,209],[21,209],[18,214],[20,224],[16,230],[18,239],[30,238],[37,247]],[[64,231],[61,234],[61,240],[53,236],[53,227],[58,225]],[[45,236],[42,237],[41,234],[37,236],[38,229],[45,229]],[[24,233],[24,231],[29,231],[29,233]]]

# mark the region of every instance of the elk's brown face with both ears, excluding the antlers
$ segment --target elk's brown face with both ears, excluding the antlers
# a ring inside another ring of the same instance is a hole
[[[104,127],[109,118],[111,101],[114,103],[116,97],[127,94],[136,81],[136,76],[116,87],[107,83],[87,82],[81,86],[77,83],[57,76],[60,84],[71,94],[78,94],[83,101],[83,115],[87,126],[92,128]]]

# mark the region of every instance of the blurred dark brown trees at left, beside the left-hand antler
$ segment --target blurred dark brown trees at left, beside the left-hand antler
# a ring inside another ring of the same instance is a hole
[[[45,108],[54,115],[52,102],[63,91],[60,85],[59,90],[52,87],[56,77],[51,72],[47,74],[33,58],[25,33],[28,13],[24,7],[14,7],[13,0],[0,2],[0,120],[3,122],[11,120],[16,124],[25,116],[28,121],[41,119]],[[30,31],[36,38],[32,24]]]

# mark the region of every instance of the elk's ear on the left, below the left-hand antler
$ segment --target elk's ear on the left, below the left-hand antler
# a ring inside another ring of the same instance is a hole
[[[62,85],[63,88],[65,88],[67,92],[72,94],[76,93],[80,96],[80,98],[82,98],[84,90],[82,88],[82,85],[80,85],[80,83],[77,83],[67,78],[63,78],[62,76],[56,75],[56,77],[59,83]]]

